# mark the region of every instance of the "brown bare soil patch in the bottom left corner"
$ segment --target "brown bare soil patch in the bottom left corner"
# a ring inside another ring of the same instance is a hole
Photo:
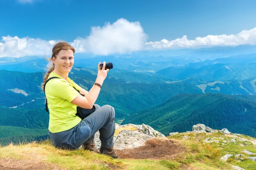
[[[0,158],[0,170],[60,170],[55,165],[31,160]]]

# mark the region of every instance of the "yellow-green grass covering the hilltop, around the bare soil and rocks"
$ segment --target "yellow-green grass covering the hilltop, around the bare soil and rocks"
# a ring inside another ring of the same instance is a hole
[[[230,157],[227,162],[220,161],[220,157],[223,155],[227,153],[235,155],[244,149],[255,153],[256,147],[249,142],[247,146],[239,146],[239,142],[236,144],[228,143],[227,145],[222,146],[221,141],[218,144],[215,142],[204,143],[204,139],[207,137],[217,137],[223,140],[230,140],[232,137],[227,137],[222,133],[186,133],[186,135],[191,138],[182,140],[181,137],[183,135],[185,135],[185,133],[179,133],[168,137],[175,140],[177,144],[184,148],[184,153],[169,159],[112,159],[106,155],[91,153],[88,150],[62,150],[54,148],[49,139],[41,142],[1,146],[0,158],[33,160],[34,162],[40,161],[51,163],[58,168],[72,170],[232,170],[231,165],[252,170],[256,167],[255,162],[249,159],[239,161],[236,157]],[[220,146],[222,148],[220,148]]]

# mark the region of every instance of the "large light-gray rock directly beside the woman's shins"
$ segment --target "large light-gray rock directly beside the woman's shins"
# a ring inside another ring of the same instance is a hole
[[[115,149],[132,149],[139,146],[143,146],[149,139],[154,138],[153,136],[141,134],[138,131],[123,130],[117,136],[115,140]]]

